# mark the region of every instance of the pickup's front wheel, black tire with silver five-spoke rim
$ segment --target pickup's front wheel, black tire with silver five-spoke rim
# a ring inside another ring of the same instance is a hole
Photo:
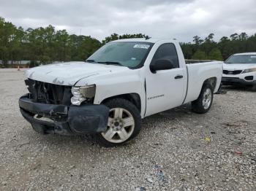
[[[105,105],[110,108],[108,129],[92,135],[94,142],[103,147],[115,147],[138,136],[141,117],[134,104],[123,98],[113,98]]]

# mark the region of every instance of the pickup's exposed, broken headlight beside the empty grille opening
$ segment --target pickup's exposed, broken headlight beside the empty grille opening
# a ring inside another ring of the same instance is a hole
[[[95,85],[72,87],[71,92],[73,97],[71,98],[71,104],[79,106],[86,99],[93,98],[95,90]]]

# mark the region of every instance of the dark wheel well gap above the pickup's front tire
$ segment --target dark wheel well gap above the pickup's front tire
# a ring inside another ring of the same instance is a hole
[[[109,101],[110,99],[113,99],[113,98],[126,99],[126,100],[132,102],[132,104],[135,104],[135,106],[137,107],[139,112],[141,112],[141,101],[140,101],[140,95],[138,95],[138,93],[127,93],[127,94],[115,95],[115,96],[112,96],[110,98],[105,98],[101,102],[101,104],[104,104],[104,103],[106,103],[107,101]]]

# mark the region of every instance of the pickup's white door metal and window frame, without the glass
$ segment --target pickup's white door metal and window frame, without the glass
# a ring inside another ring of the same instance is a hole
[[[156,74],[153,74],[149,69],[149,65],[158,47],[165,43],[175,44],[180,68],[157,71]],[[145,117],[180,106],[183,103],[187,87],[187,69],[183,52],[177,42],[170,42],[170,40],[156,42],[148,54],[143,68],[145,68],[147,94]],[[174,79],[178,74],[183,75],[184,78]],[[154,98],[156,96],[159,97]]]

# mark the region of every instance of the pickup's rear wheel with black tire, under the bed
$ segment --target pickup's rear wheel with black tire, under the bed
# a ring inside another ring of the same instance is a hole
[[[214,88],[210,84],[204,84],[197,100],[192,101],[192,112],[205,114],[211,109],[214,98]]]

